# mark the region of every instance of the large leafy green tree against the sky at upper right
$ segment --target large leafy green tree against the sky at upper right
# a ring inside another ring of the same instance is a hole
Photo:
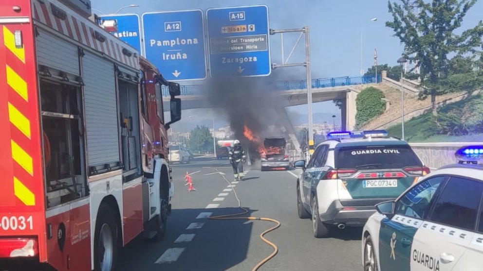
[[[450,56],[481,52],[483,22],[460,31],[463,18],[476,0],[401,0],[388,2],[392,21],[386,26],[404,44],[403,55],[421,71],[421,97],[431,97],[436,115],[436,96],[445,94],[442,80],[450,69]],[[461,34],[458,34],[461,33]]]

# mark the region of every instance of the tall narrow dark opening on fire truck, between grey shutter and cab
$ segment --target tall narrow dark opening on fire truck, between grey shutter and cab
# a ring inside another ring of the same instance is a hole
[[[119,80],[119,113],[121,125],[121,153],[125,180],[141,174],[141,146],[138,86]]]

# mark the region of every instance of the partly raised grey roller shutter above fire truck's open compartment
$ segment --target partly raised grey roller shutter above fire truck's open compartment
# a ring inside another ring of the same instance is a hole
[[[37,64],[79,75],[77,46],[37,28]]]

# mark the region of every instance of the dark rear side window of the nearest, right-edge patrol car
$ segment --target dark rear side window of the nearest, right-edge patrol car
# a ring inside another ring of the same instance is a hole
[[[436,202],[429,220],[448,226],[474,230],[482,193],[482,183],[452,177]]]

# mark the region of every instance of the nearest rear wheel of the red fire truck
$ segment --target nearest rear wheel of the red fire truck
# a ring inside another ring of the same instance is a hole
[[[94,234],[94,270],[113,271],[117,257],[117,227],[111,208],[99,206]]]

